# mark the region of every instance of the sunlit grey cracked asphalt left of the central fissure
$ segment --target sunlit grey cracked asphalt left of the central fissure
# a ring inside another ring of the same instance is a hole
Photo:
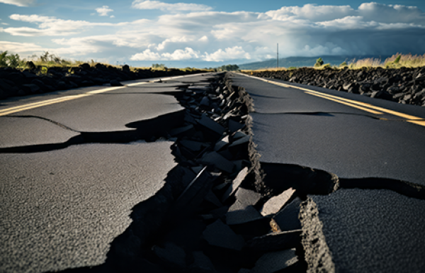
[[[154,140],[156,126],[178,126],[183,107],[173,94],[187,85],[149,83],[0,116],[0,271],[105,262],[133,206],[154,196],[176,166],[172,142],[127,140]],[[8,99],[0,111],[103,88]]]

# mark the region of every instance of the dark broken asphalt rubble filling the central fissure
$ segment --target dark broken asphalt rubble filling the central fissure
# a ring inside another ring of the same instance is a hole
[[[251,99],[229,79],[184,89],[184,123],[169,131],[179,163],[104,266],[136,272],[305,272],[296,189],[272,191],[259,172]]]

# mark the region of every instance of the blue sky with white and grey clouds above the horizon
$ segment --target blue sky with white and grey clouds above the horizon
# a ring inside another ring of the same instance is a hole
[[[0,0],[0,51],[112,65],[424,55],[425,1]]]

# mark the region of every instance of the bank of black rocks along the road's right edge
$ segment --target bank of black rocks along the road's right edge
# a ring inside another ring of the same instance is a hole
[[[314,69],[253,71],[256,77],[282,79],[297,84],[324,87],[371,98],[397,101],[400,104],[425,106],[425,67],[400,69]]]

